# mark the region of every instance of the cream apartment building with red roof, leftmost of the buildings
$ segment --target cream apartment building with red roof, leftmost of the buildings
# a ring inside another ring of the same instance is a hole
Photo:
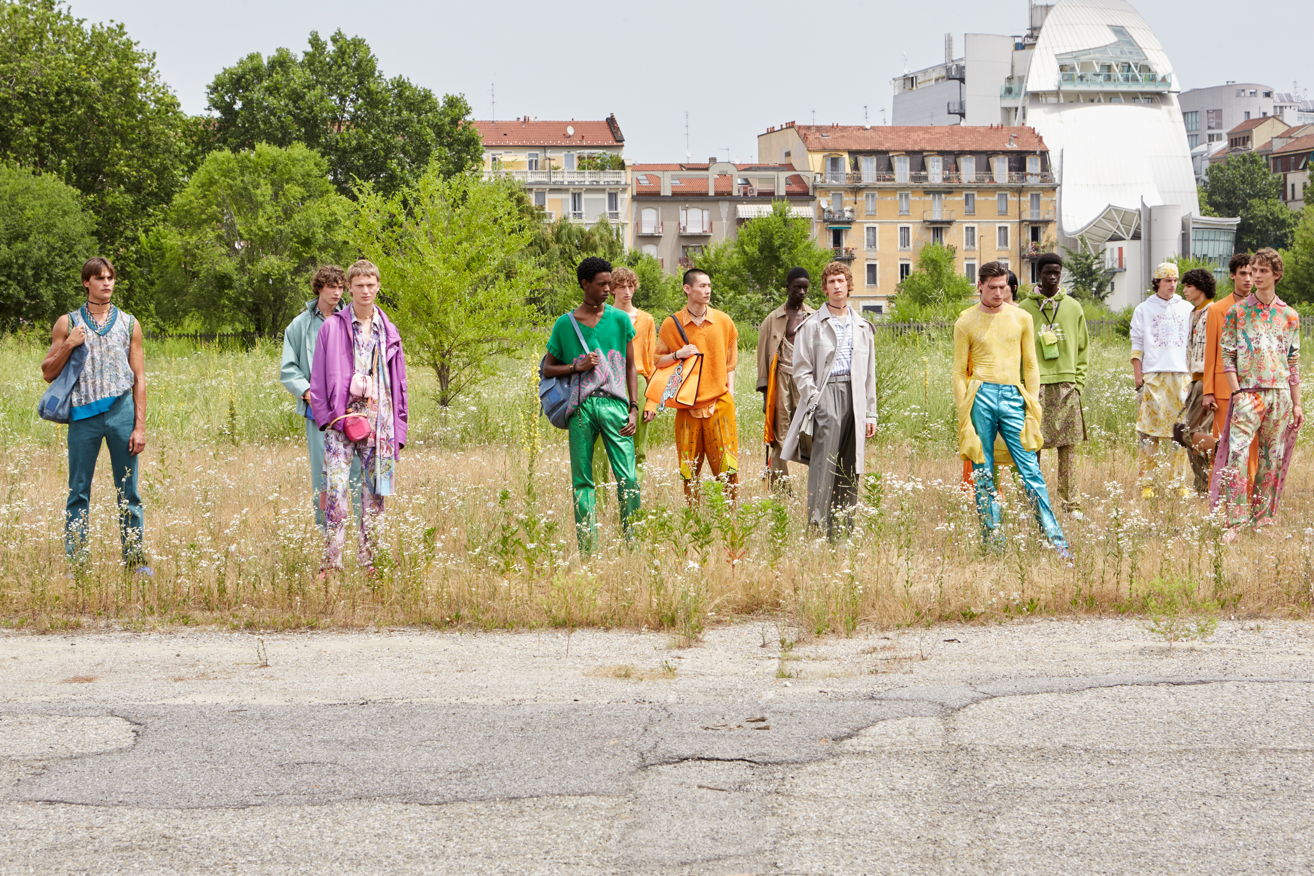
[[[624,225],[629,196],[625,138],[614,114],[552,122],[524,116],[509,122],[476,121],[474,126],[484,137],[484,173],[524,183],[547,219]]]

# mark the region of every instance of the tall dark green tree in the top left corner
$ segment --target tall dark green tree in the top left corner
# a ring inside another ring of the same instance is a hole
[[[138,235],[204,139],[124,25],[87,25],[57,0],[0,4],[0,156],[81,192],[125,294]]]

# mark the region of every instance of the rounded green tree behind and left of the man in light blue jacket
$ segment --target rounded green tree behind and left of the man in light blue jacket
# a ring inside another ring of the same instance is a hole
[[[273,335],[310,298],[310,276],[350,257],[351,202],[334,190],[328,163],[288,148],[210,152],[148,235],[163,315],[196,314],[210,327]]]

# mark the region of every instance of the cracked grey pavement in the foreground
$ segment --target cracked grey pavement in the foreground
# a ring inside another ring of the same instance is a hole
[[[0,873],[1314,865],[1309,624],[263,640],[0,634]]]

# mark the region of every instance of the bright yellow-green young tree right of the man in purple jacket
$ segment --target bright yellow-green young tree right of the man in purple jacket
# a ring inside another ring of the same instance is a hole
[[[438,376],[448,407],[536,336],[528,298],[545,272],[520,253],[532,219],[516,208],[515,184],[435,165],[414,186],[384,194],[357,189],[351,242],[378,265],[407,357]]]

